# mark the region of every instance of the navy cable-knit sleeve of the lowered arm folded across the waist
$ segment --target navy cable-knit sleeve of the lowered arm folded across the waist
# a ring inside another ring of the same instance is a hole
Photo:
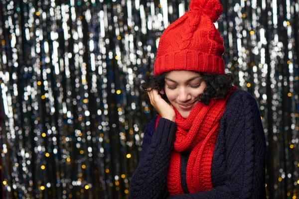
[[[266,198],[266,139],[257,102],[251,95],[246,94],[239,100],[234,100],[229,109],[223,122],[223,163],[226,164],[224,183],[207,192],[170,196],[167,199]],[[217,159],[219,156],[215,155],[213,161]]]

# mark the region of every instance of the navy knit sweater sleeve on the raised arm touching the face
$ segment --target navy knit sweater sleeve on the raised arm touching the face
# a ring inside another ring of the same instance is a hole
[[[151,138],[150,128],[146,128],[141,160],[130,184],[130,199],[167,198],[167,173],[175,131],[176,123],[165,118],[159,119]]]

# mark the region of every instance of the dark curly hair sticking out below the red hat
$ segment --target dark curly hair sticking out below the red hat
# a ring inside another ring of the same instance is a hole
[[[168,72],[161,73],[160,75],[148,75],[145,81],[141,84],[142,89],[147,93],[149,88],[158,91],[164,90],[165,76]],[[196,72],[198,73],[198,72]],[[234,78],[231,73],[216,75],[210,73],[198,73],[206,83],[207,87],[204,89],[203,94],[197,97],[202,103],[208,105],[212,99],[224,99],[233,88]],[[149,90],[149,91],[151,91]],[[161,95],[161,94],[160,94]],[[166,95],[161,97],[169,102]]]

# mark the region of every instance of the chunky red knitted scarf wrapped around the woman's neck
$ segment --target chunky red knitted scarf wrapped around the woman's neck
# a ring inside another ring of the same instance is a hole
[[[235,89],[236,87],[232,91]],[[184,194],[180,178],[179,152],[182,151],[190,151],[186,170],[186,183],[189,192],[205,192],[212,189],[213,151],[218,136],[219,121],[231,92],[225,99],[211,100],[208,105],[198,102],[186,119],[174,108],[177,131],[167,177],[167,189],[170,195]],[[160,117],[158,115],[156,126]]]

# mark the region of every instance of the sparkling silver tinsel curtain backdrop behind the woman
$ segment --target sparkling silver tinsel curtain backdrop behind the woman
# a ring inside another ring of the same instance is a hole
[[[221,1],[226,72],[252,94],[270,199],[299,198],[299,4]],[[0,0],[0,197],[128,199],[155,111],[141,90],[189,0]]]

